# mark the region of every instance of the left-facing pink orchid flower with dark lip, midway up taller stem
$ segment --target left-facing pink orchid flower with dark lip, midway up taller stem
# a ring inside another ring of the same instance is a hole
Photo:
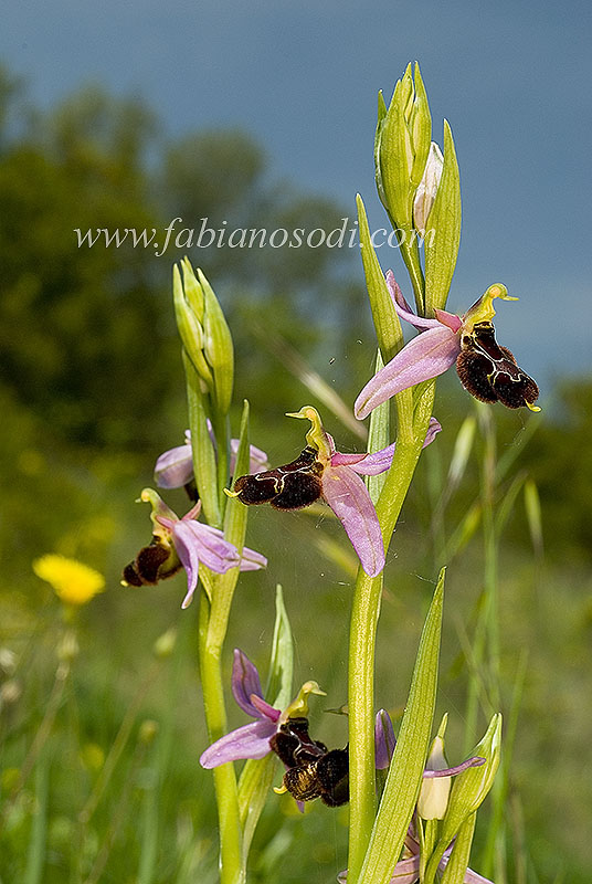
[[[226,494],[246,505],[269,503],[276,509],[302,509],[324,499],[346,529],[366,573],[376,577],[384,567],[384,546],[374,505],[360,475],[378,475],[388,470],[394,442],[373,454],[342,454],[323,428],[315,408],[305,406],[287,417],[310,421],[306,448],[299,456],[275,470],[240,476]],[[441,429],[432,418],[424,445]]]

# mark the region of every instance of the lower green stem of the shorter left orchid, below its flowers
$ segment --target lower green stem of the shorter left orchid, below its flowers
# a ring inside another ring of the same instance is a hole
[[[226,593],[214,593],[214,599]],[[205,591],[200,598],[200,665],[203,706],[208,734],[213,743],[226,730],[226,709],[222,681],[222,644],[226,632],[230,599],[225,604],[210,606]],[[218,611],[218,613],[216,613]],[[214,768],[214,789],[220,827],[220,882],[240,884],[245,881],[242,860],[242,838],[239,814],[239,794],[234,765],[225,764]]]

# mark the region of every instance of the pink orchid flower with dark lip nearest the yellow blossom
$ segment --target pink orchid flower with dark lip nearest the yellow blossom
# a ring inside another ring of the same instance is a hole
[[[151,488],[145,488],[140,499],[152,506],[152,539],[124,569],[123,586],[155,586],[184,568],[187,594],[181,608],[187,608],[198,586],[200,562],[216,573],[236,567],[241,571],[252,571],[267,565],[267,559],[260,552],[244,547],[240,554],[219,528],[198,522],[200,502],[179,518]]]

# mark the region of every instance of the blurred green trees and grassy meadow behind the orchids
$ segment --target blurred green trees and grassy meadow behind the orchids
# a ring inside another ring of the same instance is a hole
[[[274,180],[242,131],[170,139],[141,102],[96,88],[40,114],[22,84],[0,76],[2,884],[215,881],[211,775],[198,765],[207,738],[197,606],[180,610],[182,577],[119,586],[149,537],[148,514],[134,501],[186,428],[170,296],[181,253],[156,257],[128,242],[78,248],[74,230],[162,230],[178,215],[195,227],[207,217],[212,228],[330,230],[347,211]],[[272,463],[289,461],[302,432],[283,414],[310,401],[340,450],[359,449],[360,438],[303,383],[295,357],[346,403],[370,375],[373,335],[356,250],[223,248],[190,257],[229,318],[234,417],[247,398],[252,441]],[[539,417],[476,410],[452,377],[438,388],[444,431],[422,457],[389,554],[377,699],[400,713],[433,581],[448,562],[440,713],[450,712],[450,760],[463,757],[467,676],[478,669],[472,635],[493,567],[507,734],[515,718],[511,836],[498,849],[508,853],[508,881],[583,884],[592,867],[592,381],[558,380]],[[451,481],[467,417],[474,444]],[[170,502],[184,512],[181,493]],[[491,503],[494,552],[484,543]],[[252,511],[249,543],[269,568],[241,581],[229,667],[235,644],[265,667],[281,582],[296,682],[315,677],[328,694],[314,709],[314,734],[342,745],[345,720],[324,708],[346,696],[355,575],[347,540],[328,516],[262,508]],[[106,591],[76,615],[32,571],[50,551],[105,575]],[[175,636],[170,653],[155,651],[165,633]],[[485,694],[480,701],[473,741],[489,712]],[[230,719],[243,722],[232,707]],[[271,796],[253,881],[335,880],[346,814],[313,804],[299,817],[289,798]]]

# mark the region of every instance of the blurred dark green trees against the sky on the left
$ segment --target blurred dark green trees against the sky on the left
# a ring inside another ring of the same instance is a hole
[[[203,219],[214,230],[340,227],[345,212],[274,181],[262,149],[240,131],[167,139],[141,101],[97,88],[41,115],[6,73],[0,125],[2,382],[68,444],[138,450],[170,441],[162,423],[175,410],[171,391],[175,406],[182,401],[170,267],[186,251],[237,320],[236,346],[247,355],[261,346],[250,337],[253,303],[260,322],[268,313],[313,358],[317,340],[342,332],[320,313],[320,295],[324,304],[362,304],[360,284],[343,282],[355,266],[349,250],[187,250],[184,234],[175,248],[180,231],[197,236]],[[156,229],[161,249],[175,219],[160,256],[130,236],[89,248],[75,234]]]

